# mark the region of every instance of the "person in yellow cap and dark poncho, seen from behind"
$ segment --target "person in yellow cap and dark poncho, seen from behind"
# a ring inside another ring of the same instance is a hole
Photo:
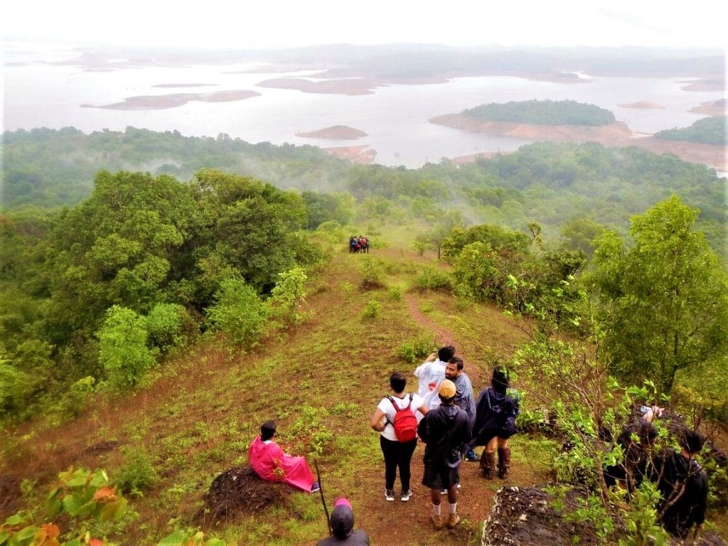
[[[432,526],[452,529],[460,522],[457,515],[457,484],[460,483],[460,463],[463,446],[470,441],[467,414],[455,405],[457,389],[449,379],[440,382],[440,406],[428,411],[417,427],[424,448],[422,485],[430,488]],[[443,521],[440,510],[440,490],[448,492],[448,517]]]

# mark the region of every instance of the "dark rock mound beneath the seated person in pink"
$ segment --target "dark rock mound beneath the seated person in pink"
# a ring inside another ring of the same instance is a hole
[[[255,513],[282,502],[290,487],[258,478],[250,467],[232,467],[213,480],[197,519],[213,523],[242,513]]]

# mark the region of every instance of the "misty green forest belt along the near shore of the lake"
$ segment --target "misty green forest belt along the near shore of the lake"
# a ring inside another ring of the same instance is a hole
[[[7,213],[76,205],[104,168],[143,170],[189,181],[203,168],[240,173],[296,188],[309,203],[309,228],[326,219],[378,222],[441,218],[456,209],[470,223],[526,231],[531,222],[557,237],[585,218],[622,233],[630,216],[677,194],[700,209],[697,226],[726,253],[724,181],[705,166],[636,148],[595,143],[537,143],[513,154],[454,165],[446,159],[419,169],[350,165],[312,146],[250,144],[240,139],[183,137],[177,132],[72,128],[5,132]],[[637,191],[638,190],[638,191]],[[315,202],[315,205],[314,205]],[[41,213],[31,213],[34,217]]]

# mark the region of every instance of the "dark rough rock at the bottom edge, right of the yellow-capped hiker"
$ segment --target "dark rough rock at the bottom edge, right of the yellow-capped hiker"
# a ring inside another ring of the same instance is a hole
[[[571,495],[574,499],[577,493],[572,491]],[[593,527],[565,523],[551,507],[551,501],[553,498],[540,487],[499,489],[483,526],[480,544],[548,546],[571,544],[573,537],[579,537],[580,545],[599,543]]]

